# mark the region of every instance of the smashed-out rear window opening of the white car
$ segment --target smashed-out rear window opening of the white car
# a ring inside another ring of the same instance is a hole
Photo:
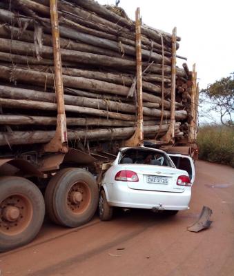
[[[119,164],[144,164],[174,167],[164,152],[157,150],[129,148],[121,152]]]

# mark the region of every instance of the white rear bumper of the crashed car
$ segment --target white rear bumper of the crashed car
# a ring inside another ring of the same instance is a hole
[[[156,210],[186,210],[191,200],[191,187],[183,193],[135,190],[126,184],[104,184],[106,199],[110,206]]]

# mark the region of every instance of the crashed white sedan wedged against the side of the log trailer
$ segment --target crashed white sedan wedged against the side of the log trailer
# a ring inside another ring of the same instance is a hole
[[[99,217],[109,220],[113,207],[166,210],[175,215],[188,209],[195,170],[191,157],[169,155],[153,148],[122,148],[101,182]]]

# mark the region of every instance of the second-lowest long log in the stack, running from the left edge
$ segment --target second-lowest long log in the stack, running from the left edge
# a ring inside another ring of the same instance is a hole
[[[135,121],[123,121],[101,118],[66,118],[68,126],[134,126]],[[152,122],[153,124],[153,122]],[[0,125],[12,126],[56,126],[57,117],[30,115],[0,115]]]

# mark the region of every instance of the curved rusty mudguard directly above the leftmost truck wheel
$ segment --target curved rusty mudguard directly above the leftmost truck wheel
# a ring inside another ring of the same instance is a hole
[[[38,168],[23,159],[0,159],[0,175],[27,175],[45,178],[46,175]]]

